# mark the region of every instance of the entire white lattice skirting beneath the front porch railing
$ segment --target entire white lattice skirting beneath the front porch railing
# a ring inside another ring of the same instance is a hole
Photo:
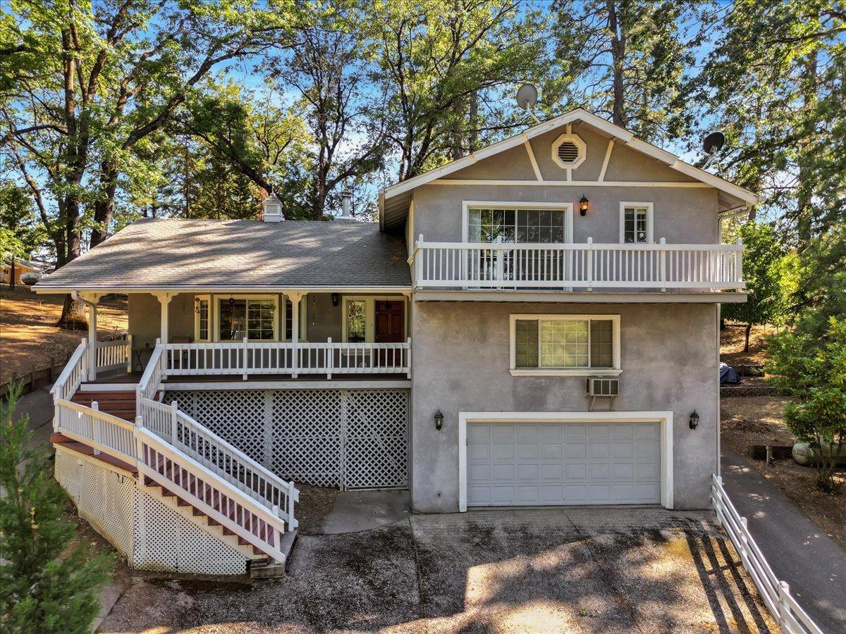
[[[281,478],[408,487],[408,390],[170,391],[172,401]]]

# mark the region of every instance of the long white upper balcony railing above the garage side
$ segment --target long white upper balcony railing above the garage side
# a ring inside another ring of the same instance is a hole
[[[743,244],[415,243],[421,288],[742,289]]]

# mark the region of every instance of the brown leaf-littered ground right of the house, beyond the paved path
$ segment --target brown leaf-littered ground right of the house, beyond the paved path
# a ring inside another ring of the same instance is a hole
[[[796,442],[782,418],[784,405],[789,401],[786,396],[722,398],[722,443],[746,456],[758,473],[794,500],[829,537],[846,548],[846,469],[835,475],[840,484],[839,495],[827,495],[814,486],[816,471],[812,467],[803,467],[792,458],[766,464],[747,455],[749,445],[793,445]]]

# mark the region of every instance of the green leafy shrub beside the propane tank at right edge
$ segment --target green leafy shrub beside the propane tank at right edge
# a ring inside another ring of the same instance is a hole
[[[784,408],[784,419],[799,440],[821,449],[817,486],[830,492],[835,452],[846,442],[846,319],[832,317],[822,337],[785,331],[767,349],[770,380],[798,399]]]

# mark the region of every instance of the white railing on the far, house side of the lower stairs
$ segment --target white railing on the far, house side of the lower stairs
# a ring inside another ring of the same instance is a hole
[[[142,398],[140,412],[146,429],[179,447],[229,484],[266,506],[274,515],[282,517],[289,530],[298,526],[299,522],[294,517],[294,502],[299,501],[299,490],[293,482],[285,482],[190,418],[179,410],[176,402],[165,405]]]

